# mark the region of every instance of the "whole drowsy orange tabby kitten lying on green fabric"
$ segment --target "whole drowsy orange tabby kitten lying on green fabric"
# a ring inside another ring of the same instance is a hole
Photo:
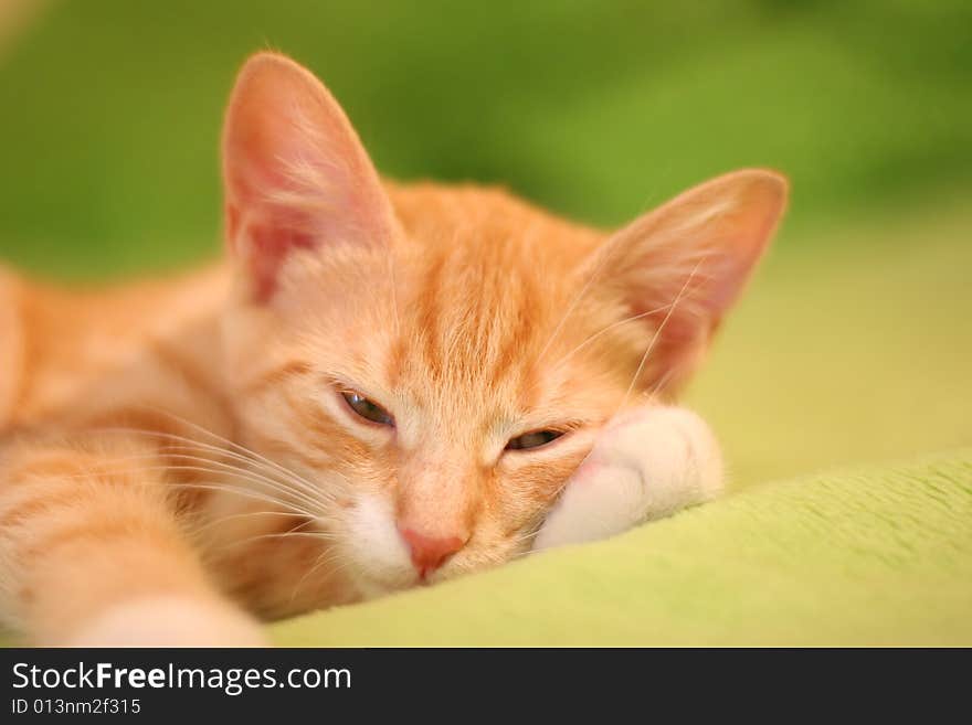
[[[258,643],[244,610],[496,565],[577,500],[540,543],[571,540],[592,505],[559,495],[571,473],[609,420],[667,409],[646,396],[695,367],[785,198],[738,171],[604,234],[382,182],[271,53],[240,74],[223,171],[224,265],[98,292],[0,271],[0,615],[30,641]]]

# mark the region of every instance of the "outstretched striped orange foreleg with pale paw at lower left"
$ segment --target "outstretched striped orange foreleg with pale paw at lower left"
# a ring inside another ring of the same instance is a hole
[[[144,439],[0,448],[0,619],[33,644],[265,643],[212,585]]]

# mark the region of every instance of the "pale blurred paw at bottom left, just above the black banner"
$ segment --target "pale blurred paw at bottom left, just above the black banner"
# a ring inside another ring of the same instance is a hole
[[[127,601],[82,627],[67,647],[267,647],[249,615],[214,599],[158,596]]]

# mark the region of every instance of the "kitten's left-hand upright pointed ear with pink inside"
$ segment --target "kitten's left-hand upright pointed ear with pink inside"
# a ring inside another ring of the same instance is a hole
[[[225,233],[252,295],[268,299],[287,254],[385,244],[391,204],[355,129],[327,88],[275,53],[251,57],[223,130]]]

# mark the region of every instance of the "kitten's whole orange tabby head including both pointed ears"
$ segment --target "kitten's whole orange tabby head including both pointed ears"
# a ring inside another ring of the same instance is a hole
[[[599,428],[693,370],[786,192],[738,171],[604,234],[382,183],[275,54],[243,68],[223,153],[241,436],[313,484],[294,500],[364,595],[529,548]]]

